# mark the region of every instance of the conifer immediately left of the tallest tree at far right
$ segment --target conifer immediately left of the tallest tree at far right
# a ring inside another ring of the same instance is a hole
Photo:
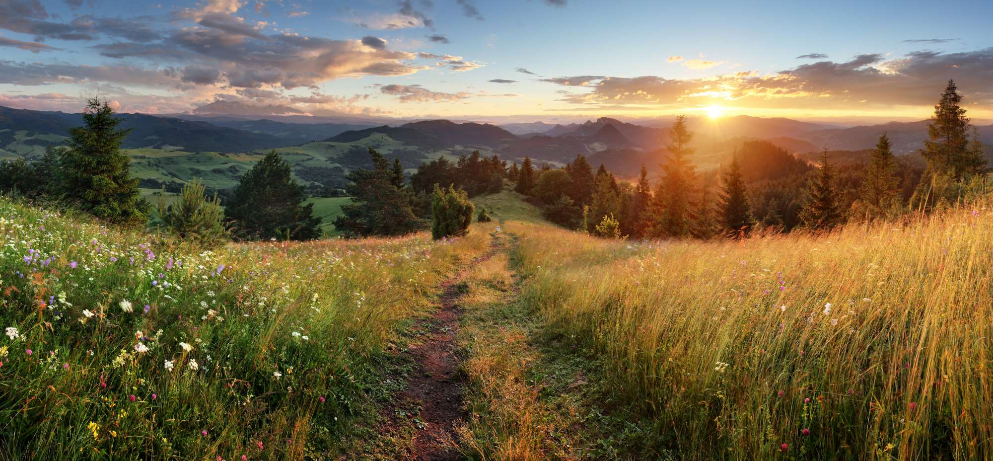
[[[900,178],[890,138],[883,133],[872,152],[866,179],[859,188],[860,214],[866,220],[884,218],[899,206]]]

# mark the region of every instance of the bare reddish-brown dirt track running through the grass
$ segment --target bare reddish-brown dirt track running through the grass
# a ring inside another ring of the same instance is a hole
[[[426,426],[414,435],[413,451],[402,459],[418,461],[454,461],[458,453],[452,450],[455,422],[462,416],[462,383],[459,362],[455,357],[455,337],[459,330],[459,282],[465,274],[499,250],[497,238],[490,249],[473,260],[460,272],[442,282],[441,309],[422,322],[429,333],[424,342],[410,349],[417,363],[416,371],[400,398],[419,401],[419,419]]]

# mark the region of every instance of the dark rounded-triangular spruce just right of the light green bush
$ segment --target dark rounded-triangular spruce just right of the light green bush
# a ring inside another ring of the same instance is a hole
[[[290,163],[273,150],[241,176],[225,213],[239,238],[308,240],[321,236],[321,219],[305,200]]]

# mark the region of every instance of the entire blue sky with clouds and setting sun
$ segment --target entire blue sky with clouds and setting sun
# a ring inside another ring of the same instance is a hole
[[[0,105],[993,119],[993,2],[0,0]]]

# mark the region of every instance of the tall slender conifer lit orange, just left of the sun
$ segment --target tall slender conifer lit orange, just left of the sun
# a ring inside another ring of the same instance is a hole
[[[669,130],[671,141],[666,145],[668,161],[662,166],[664,191],[661,229],[669,236],[684,236],[690,231],[690,207],[696,169],[690,163],[693,154],[689,142],[693,133],[686,128],[686,116],[679,115]]]

